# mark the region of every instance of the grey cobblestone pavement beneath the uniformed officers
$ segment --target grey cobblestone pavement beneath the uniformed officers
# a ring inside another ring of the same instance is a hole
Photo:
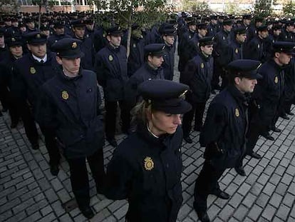
[[[63,208],[73,199],[66,161],[63,159],[58,176],[51,176],[43,140],[40,150],[33,151],[21,124],[12,130],[9,126],[9,116],[4,113],[0,117],[0,221],[87,221],[78,208]],[[277,126],[282,132],[271,133],[275,141],[259,138],[255,151],[263,158],[244,160],[247,176],[238,176],[232,169],[224,172],[219,184],[231,198],[224,201],[209,196],[212,221],[295,221],[295,117],[289,121],[279,118]],[[184,142],[182,146],[184,201],[178,221],[184,222],[197,221],[193,190],[204,161],[199,133],[192,132],[191,136],[194,143]],[[120,142],[123,135],[116,138]],[[113,148],[105,146],[105,164],[112,152]],[[125,221],[127,202],[97,195],[92,178],[90,196],[95,210],[90,221]]]

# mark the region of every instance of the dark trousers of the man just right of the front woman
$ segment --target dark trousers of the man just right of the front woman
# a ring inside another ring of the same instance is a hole
[[[223,172],[224,169],[217,169],[209,161],[205,161],[202,171],[195,182],[195,210],[207,211],[207,197],[209,193],[219,189],[218,180]]]

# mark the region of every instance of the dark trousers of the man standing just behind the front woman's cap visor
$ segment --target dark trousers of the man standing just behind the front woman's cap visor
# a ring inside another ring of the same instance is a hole
[[[192,109],[185,113],[182,118],[182,130],[184,136],[189,136],[192,129],[192,119],[195,115],[195,127],[202,127],[205,103],[191,103]]]

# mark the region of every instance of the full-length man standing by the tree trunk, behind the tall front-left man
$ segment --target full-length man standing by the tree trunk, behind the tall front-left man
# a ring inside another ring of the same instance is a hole
[[[112,26],[107,31],[108,45],[95,55],[95,72],[98,84],[103,86],[105,96],[105,135],[111,146],[115,141],[116,111],[119,104],[122,130],[127,132],[130,123],[128,106],[124,101],[124,88],[128,81],[126,49],[121,46],[122,30]]]

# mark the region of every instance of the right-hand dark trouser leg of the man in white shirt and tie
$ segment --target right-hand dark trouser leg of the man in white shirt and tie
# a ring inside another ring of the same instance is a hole
[[[56,143],[56,133],[51,128],[40,126],[41,132],[44,136],[45,146],[49,155],[50,166],[58,166],[61,160],[61,154],[59,153]]]

